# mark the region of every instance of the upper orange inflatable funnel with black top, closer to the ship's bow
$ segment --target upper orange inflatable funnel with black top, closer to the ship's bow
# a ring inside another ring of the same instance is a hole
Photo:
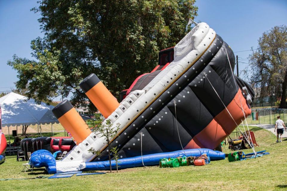
[[[94,73],[86,77],[80,83],[80,87],[105,118],[111,115],[120,105]]]

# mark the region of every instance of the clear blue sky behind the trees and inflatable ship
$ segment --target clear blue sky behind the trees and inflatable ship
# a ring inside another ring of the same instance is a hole
[[[30,11],[37,0],[0,1],[0,91],[10,90],[17,81],[17,73],[7,60],[13,54],[31,58],[30,41],[43,36],[37,19],[39,13]],[[287,24],[287,1],[267,0],[198,0],[198,17],[206,22],[227,42],[234,52],[257,47],[257,40],[264,31],[276,25]],[[246,59],[251,51],[234,53]],[[242,62],[246,62],[241,60]],[[239,64],[239,71],[246,64]]]

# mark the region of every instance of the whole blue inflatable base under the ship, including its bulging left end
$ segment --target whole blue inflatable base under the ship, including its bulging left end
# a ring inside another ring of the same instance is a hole
[[[145,166],[158,165],[161,158],[173,158],[179,156],[200,156],[207,154],[210,160],[222,160],[225,159],[225,153],[220,151],[214,151],[211,149],[187,149],[179,150],[167,153],[156,153],[150,155],[136,156],[131,158],[123,158],[118,160],[120,165],[119,169],[142,167],[143,162]],[[31,165],[35,168],[46,167],[49,174],[59,172],[70,172],[72,170],[108,170],[109,161],[97,161],[97,162],[82,162],[82,163],[65,163],[65,168],[56,166],[55,157],[47,150],[37,150],[31,155]],[[69,167],[69,165],[71,167]],[[76,167],[75,167],[76,166]],[[112,169],[116,168],[115,160],[112,160]]]

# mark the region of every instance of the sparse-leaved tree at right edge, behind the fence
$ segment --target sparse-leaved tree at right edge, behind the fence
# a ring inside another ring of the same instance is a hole
[[[287,26],[275,26],[258,40],[249,56],[249,81],[260,88],[260,97],[275,95],[280,108],[287,108]]]

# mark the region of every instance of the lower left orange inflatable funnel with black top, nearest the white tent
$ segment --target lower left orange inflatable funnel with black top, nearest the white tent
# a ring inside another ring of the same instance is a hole
[[[52,112],[65,130],[71,133],[76,144],[81,143],[91,134],[86,122],[68,100],[59,103]]]

